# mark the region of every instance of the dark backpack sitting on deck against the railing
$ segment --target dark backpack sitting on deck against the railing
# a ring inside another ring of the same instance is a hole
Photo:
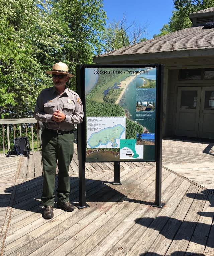
[[[10,155],[26,155],[29,158],[30,143],[26,136],[19,136],[13,140],[14,146],[12,150],[8,150],[6,156]]]

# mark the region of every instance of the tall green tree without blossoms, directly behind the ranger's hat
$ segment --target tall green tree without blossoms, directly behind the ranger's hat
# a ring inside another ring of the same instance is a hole
[[[65,36],[62,59],[66,60],[70,72],[75,73],[77,64],[92,63],[92,56],[101,51],[100,38],[106,13],[101,0],[56,0],[53,17],[60,21]],[[75,79],[70,83],[76,87]]]

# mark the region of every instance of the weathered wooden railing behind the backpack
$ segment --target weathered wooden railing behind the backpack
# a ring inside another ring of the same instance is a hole
[[[41,138],[41,130],[35,126],[37,121],[34,118],[21,118],[21,119],[0,119],[0,125],[2,125],[2,139],[3,139],[3,152],[5,153],[5,136],[4,130],[7,129],[7,149],[10,149],[10,132],[13,131],[13,137],[16,138],[18,136],[22,136],[22,125],[25,125],[25,134],[27,136],[28,129],[31,129],[31,150],[34,148],[33,141],[33,130],[36,129],[36,137],[37,137],[37,150],[39,150],[39,143]],[[19,135],[16,135],[16,124],[19,124]],[[13,128],[12,128],[13,127]],[[34,128],[34,129],[33,129]],[[25,136],[25,135],[24,135]]]

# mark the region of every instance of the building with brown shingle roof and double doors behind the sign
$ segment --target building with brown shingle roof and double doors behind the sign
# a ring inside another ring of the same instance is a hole
[[[164,136],[214,138],[214,7],[192,27],[93,57],[97,64],[164,65]]]

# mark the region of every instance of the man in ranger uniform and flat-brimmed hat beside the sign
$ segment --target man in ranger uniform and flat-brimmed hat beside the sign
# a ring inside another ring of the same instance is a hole
[[[74,205],[69,201],[70,181],[69,165],[74,152],[74,124],[83,121],[83,106],[79,95],[66,88],[69,77],[65,63],[56,63],[51,71],[53,87],[40,92],[36,100],[33,116],[43,124],[42,165],[43,165],[43,193],[41,201],[44,206],[43,217],[54,216],[54,189],[56,164],[58,161],[57,206],[66,211],[73,211]]]

